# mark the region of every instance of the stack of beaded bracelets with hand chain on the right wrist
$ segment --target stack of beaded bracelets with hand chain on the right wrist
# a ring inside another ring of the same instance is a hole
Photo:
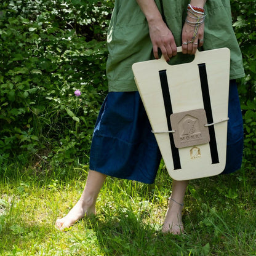
[[[206,14],[204,13],[204,8],[191,6],[190,4],[188,5],[187,10],[188,10],[188,16],[186,17],[185,22],[188,25],[194,27],[194,33],[193,33],[191,41],[183,42],[182,44],[193,44],[194,39],[198,35],[198,28],[199,28],[199,26],[202,25],[202,23],[204,23]],[[194,20],[195,22],[191,22],[190,20],[188,20],[188,17],[191,18],[192,20]],[[196,42],[194,44],[198,44],[198,42]]]

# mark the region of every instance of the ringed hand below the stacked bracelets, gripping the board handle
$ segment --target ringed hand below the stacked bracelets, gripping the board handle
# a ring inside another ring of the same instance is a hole
[[[183,25],[182,29],[182,53],[183,54],[196,54],[198,46],[201,47],[204,44],[204,23],[198,26],[198,31],[193,40],[196,27],[187,24]],[[192,42],[193,41],[193,42]]]

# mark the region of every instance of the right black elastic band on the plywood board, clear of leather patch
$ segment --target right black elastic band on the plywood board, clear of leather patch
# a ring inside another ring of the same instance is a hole
[[[214,119],[212,118],[212,106],[210,105],[210,93],[209,93],[209,86],[207,80],[207,73],[206,73],[206,63],[198,64],[199,68],[199,75],[201,81],[201,89],[202,89],[202,100],[204,102],[204,110],[206,110],[206,118],[208,124],[212,124]],[[218,148],[216,143],[215,137],[215,130],[214,126],[209,126],[209,135],[210,135],[210,154],[212,156],[212,164],[217,164],[218,160]]]

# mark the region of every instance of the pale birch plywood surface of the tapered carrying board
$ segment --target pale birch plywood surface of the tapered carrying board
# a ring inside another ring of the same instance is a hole
[[[182,49],[178,47],[180,52]],[[169,65],[164,58],[134,63],[135,82],[154,132],[168,130],[159,71],[166,70],[173,113],[204,108],[199,63],[206,63],[210,103],[214,122],[228,117],[230,50],[227,48],[196,52],[193,62]],[[174,170],[168,133],[155,134],[170,177],[175,180],[220,174],[226,164],[227,121],[214,125],[219,163],[212,164],[209,143],[179,148],[181,169]],[[197,152],[196,152],[197,151]]]

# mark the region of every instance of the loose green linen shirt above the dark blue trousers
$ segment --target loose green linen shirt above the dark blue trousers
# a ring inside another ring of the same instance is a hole
[[[162,0],[167,25],[177,46],[182,44],[182,27],[189,0]],[[160,8],[159,0],[156,4]],[[204,6],[206,20],[204,45],[201,50],[228,47],[230,49],[230,79],[244,76],[242,55],[233,31],[229,0],[208,0]],[[162,14],[163,15],[163,14]],[[145,15],[136,0],[115,0],[108,29],[109,50],[106,74],[110,92],[136,91],[132,64],[154,59],[153,47]],[[190,55],[177,54],[172,64],[182,62]]]

